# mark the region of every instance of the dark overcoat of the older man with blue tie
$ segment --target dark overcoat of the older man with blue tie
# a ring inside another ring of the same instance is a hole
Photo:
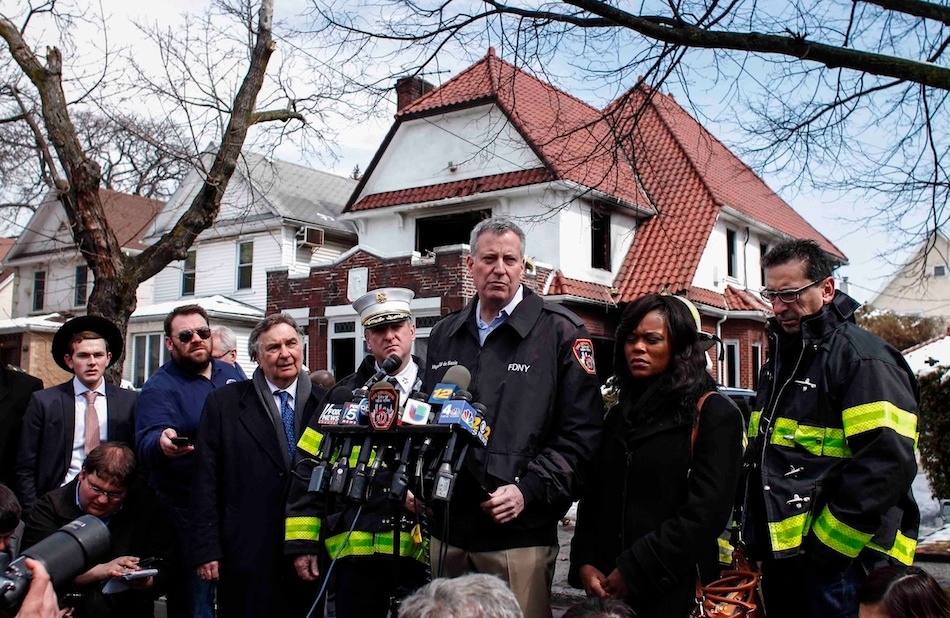
[[[298,380],[309,382],[306,373]],[[314,392],[296,406],[298,439],[316,408]],[[195,455],[186,559],[193,565],[218,561],[220,615],[306,615],[317,589],[302,582],[292,559],[283,556],[290,464],[253,379],[208,395]]]

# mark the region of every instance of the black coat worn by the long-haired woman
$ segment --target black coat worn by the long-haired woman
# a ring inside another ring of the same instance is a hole
[[[718,569],[717,538],[732,514],[742,459],[742,415],[727,398],[703,404],[690,463],[692,423],[672,413],[625,440],[622,406],[608,412],[604,440],[577,514],[570,581],[580,567],[619,568],[639,618],[685,616],[696,566]]]

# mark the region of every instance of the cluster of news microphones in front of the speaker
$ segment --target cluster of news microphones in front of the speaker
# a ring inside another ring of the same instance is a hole
[[[398,356],[390,356],[350,401],[328,403],[320,412],[323,438],[309,491],[365,502],[374,491],[404,500],[409,489],[421,496],[423,488],[432,487],[433,500],[451,498],[469,446],[485,447],[490,439],[485,407],[472,402],[469,370],[455,365],[431,395],[411,393],[400,411],[399,393],[384,379],[400,364]],[[410,474],[413,461],[415,473]],[[384,464],[393,469],[392,479],[377,483]]]

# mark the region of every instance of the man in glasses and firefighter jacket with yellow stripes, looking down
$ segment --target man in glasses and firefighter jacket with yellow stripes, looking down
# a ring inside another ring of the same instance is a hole
[[[769,618],[858,615],[857,589],[911,564],[920,515],[917,381],[900,352],[858,327],[814,241],[762,259],[769,355],[749,423],[742,540],[762,561]]]

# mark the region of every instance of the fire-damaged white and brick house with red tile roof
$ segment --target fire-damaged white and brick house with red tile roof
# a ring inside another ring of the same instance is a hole
[[[396,86],[396,121],[341,219],[359,245],[309,274],[268,277],[268,311],[307,307],[313,368],[352,371],[365,349],[350,303],[368,289],[416,292],[416,353],[429,329],[474,295],[472,226],[516,219],[525,282],[571,308],[611,373],[623,304],[686,294],[724,343],[715,372],[754,387],[769,308],[760,257],[787,237],[845,256],[671,97],[635,88],[603,110],[487,56],[438,88]]]

